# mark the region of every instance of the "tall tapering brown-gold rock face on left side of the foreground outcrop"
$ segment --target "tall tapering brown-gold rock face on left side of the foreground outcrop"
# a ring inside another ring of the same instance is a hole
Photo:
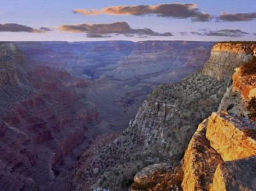
[[[198,126],[186,150],[183,162],[183,190],[209,190],[216,167],[223,161],[205,137],[207,125],[208,119],[205,119]]]

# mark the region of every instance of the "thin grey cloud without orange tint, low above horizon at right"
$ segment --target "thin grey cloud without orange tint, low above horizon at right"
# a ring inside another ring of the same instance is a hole
[[[230,36],[230,37],[242,37],[244,34],[249,34],[239,29],[230,30],[223,29],[220,31],[207,31],[205,33],[191,32],[191,34],[200,35],[200,36]]]

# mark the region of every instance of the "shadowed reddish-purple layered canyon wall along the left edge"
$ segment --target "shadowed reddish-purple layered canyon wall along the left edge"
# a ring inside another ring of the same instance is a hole
[[[1,189],[48,190],[92,140],[95,105],[64,86],[69,73],[29,64],[15,43],[0,43],[0,71]]]

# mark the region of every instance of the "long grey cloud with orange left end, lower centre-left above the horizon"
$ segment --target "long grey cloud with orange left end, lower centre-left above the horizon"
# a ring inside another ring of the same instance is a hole
[[[132,29],[127,22],[114,22],[111,24],[78,24],[63,25],[58,27],[60,31],[87,34],[138,34],[149,36],[173,36],[172,33],[156,33],[151,29]]]

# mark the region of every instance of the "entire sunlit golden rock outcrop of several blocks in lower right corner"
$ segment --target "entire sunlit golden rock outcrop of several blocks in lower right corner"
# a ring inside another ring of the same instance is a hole
[[[186,150],[183,190],[254,190],[255,135],[254,121],[212,113],[198,126]]]

